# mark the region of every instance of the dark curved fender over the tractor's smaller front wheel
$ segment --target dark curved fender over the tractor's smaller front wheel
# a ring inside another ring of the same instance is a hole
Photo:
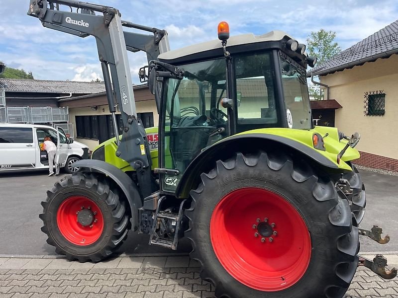
[[[76,161],[74,166],[81,172],[97,172],[112,179],[127,198],[133,219],[133,227],[138,227],[138,209],[142,207],[142,199],[133,180],[114,165],[97,159],[84,159]]]

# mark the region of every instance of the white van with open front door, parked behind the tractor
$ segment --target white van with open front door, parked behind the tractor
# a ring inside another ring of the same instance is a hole
[[[1,123],[0,171],[48,168],[47,152],[42,150],[46,136],[57,145],[58,163],[69,174],[78,170],[76,161],[89,157],[89,148],[68,139],[61,127]]]

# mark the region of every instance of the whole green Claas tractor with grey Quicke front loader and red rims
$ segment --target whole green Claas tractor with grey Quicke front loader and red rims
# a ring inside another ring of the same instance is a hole
[[[382,256],[358,256],[360,234],[389,237],[358,227],[359,134],[312,125],[305,71],[316,58],[305,45],[281,31],[229,38],[221,22],[219,40],[168,51],[166,32],[122,21],[112,7],[31,0],[28,14],[96,38],[109,109],[123,121],[121,138],[47,192],[42,231],[57,253],[99,262],[130,229],[170,249],[186,236],[201,278],[230,298],[341,298],[359,265],[397,275]],[[126,24],[154,33],[146,47]],[[148,55],[139,74],[158,130],[136,117],[127,50]]]

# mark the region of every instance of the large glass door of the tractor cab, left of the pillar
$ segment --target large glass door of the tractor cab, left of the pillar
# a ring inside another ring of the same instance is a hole
[[[184,172],[202,149],[226,137],[226,109],[219,104],[226,97],[224,58],[179,66],[182,80],[166,80],[164,96],[164,163]]]

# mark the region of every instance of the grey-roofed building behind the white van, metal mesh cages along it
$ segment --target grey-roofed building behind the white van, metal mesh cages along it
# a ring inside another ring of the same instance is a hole
[[[73,136],[68,108],[58,101],[104,90],[98,82],[0,78],[0,123],[57,125]]]

